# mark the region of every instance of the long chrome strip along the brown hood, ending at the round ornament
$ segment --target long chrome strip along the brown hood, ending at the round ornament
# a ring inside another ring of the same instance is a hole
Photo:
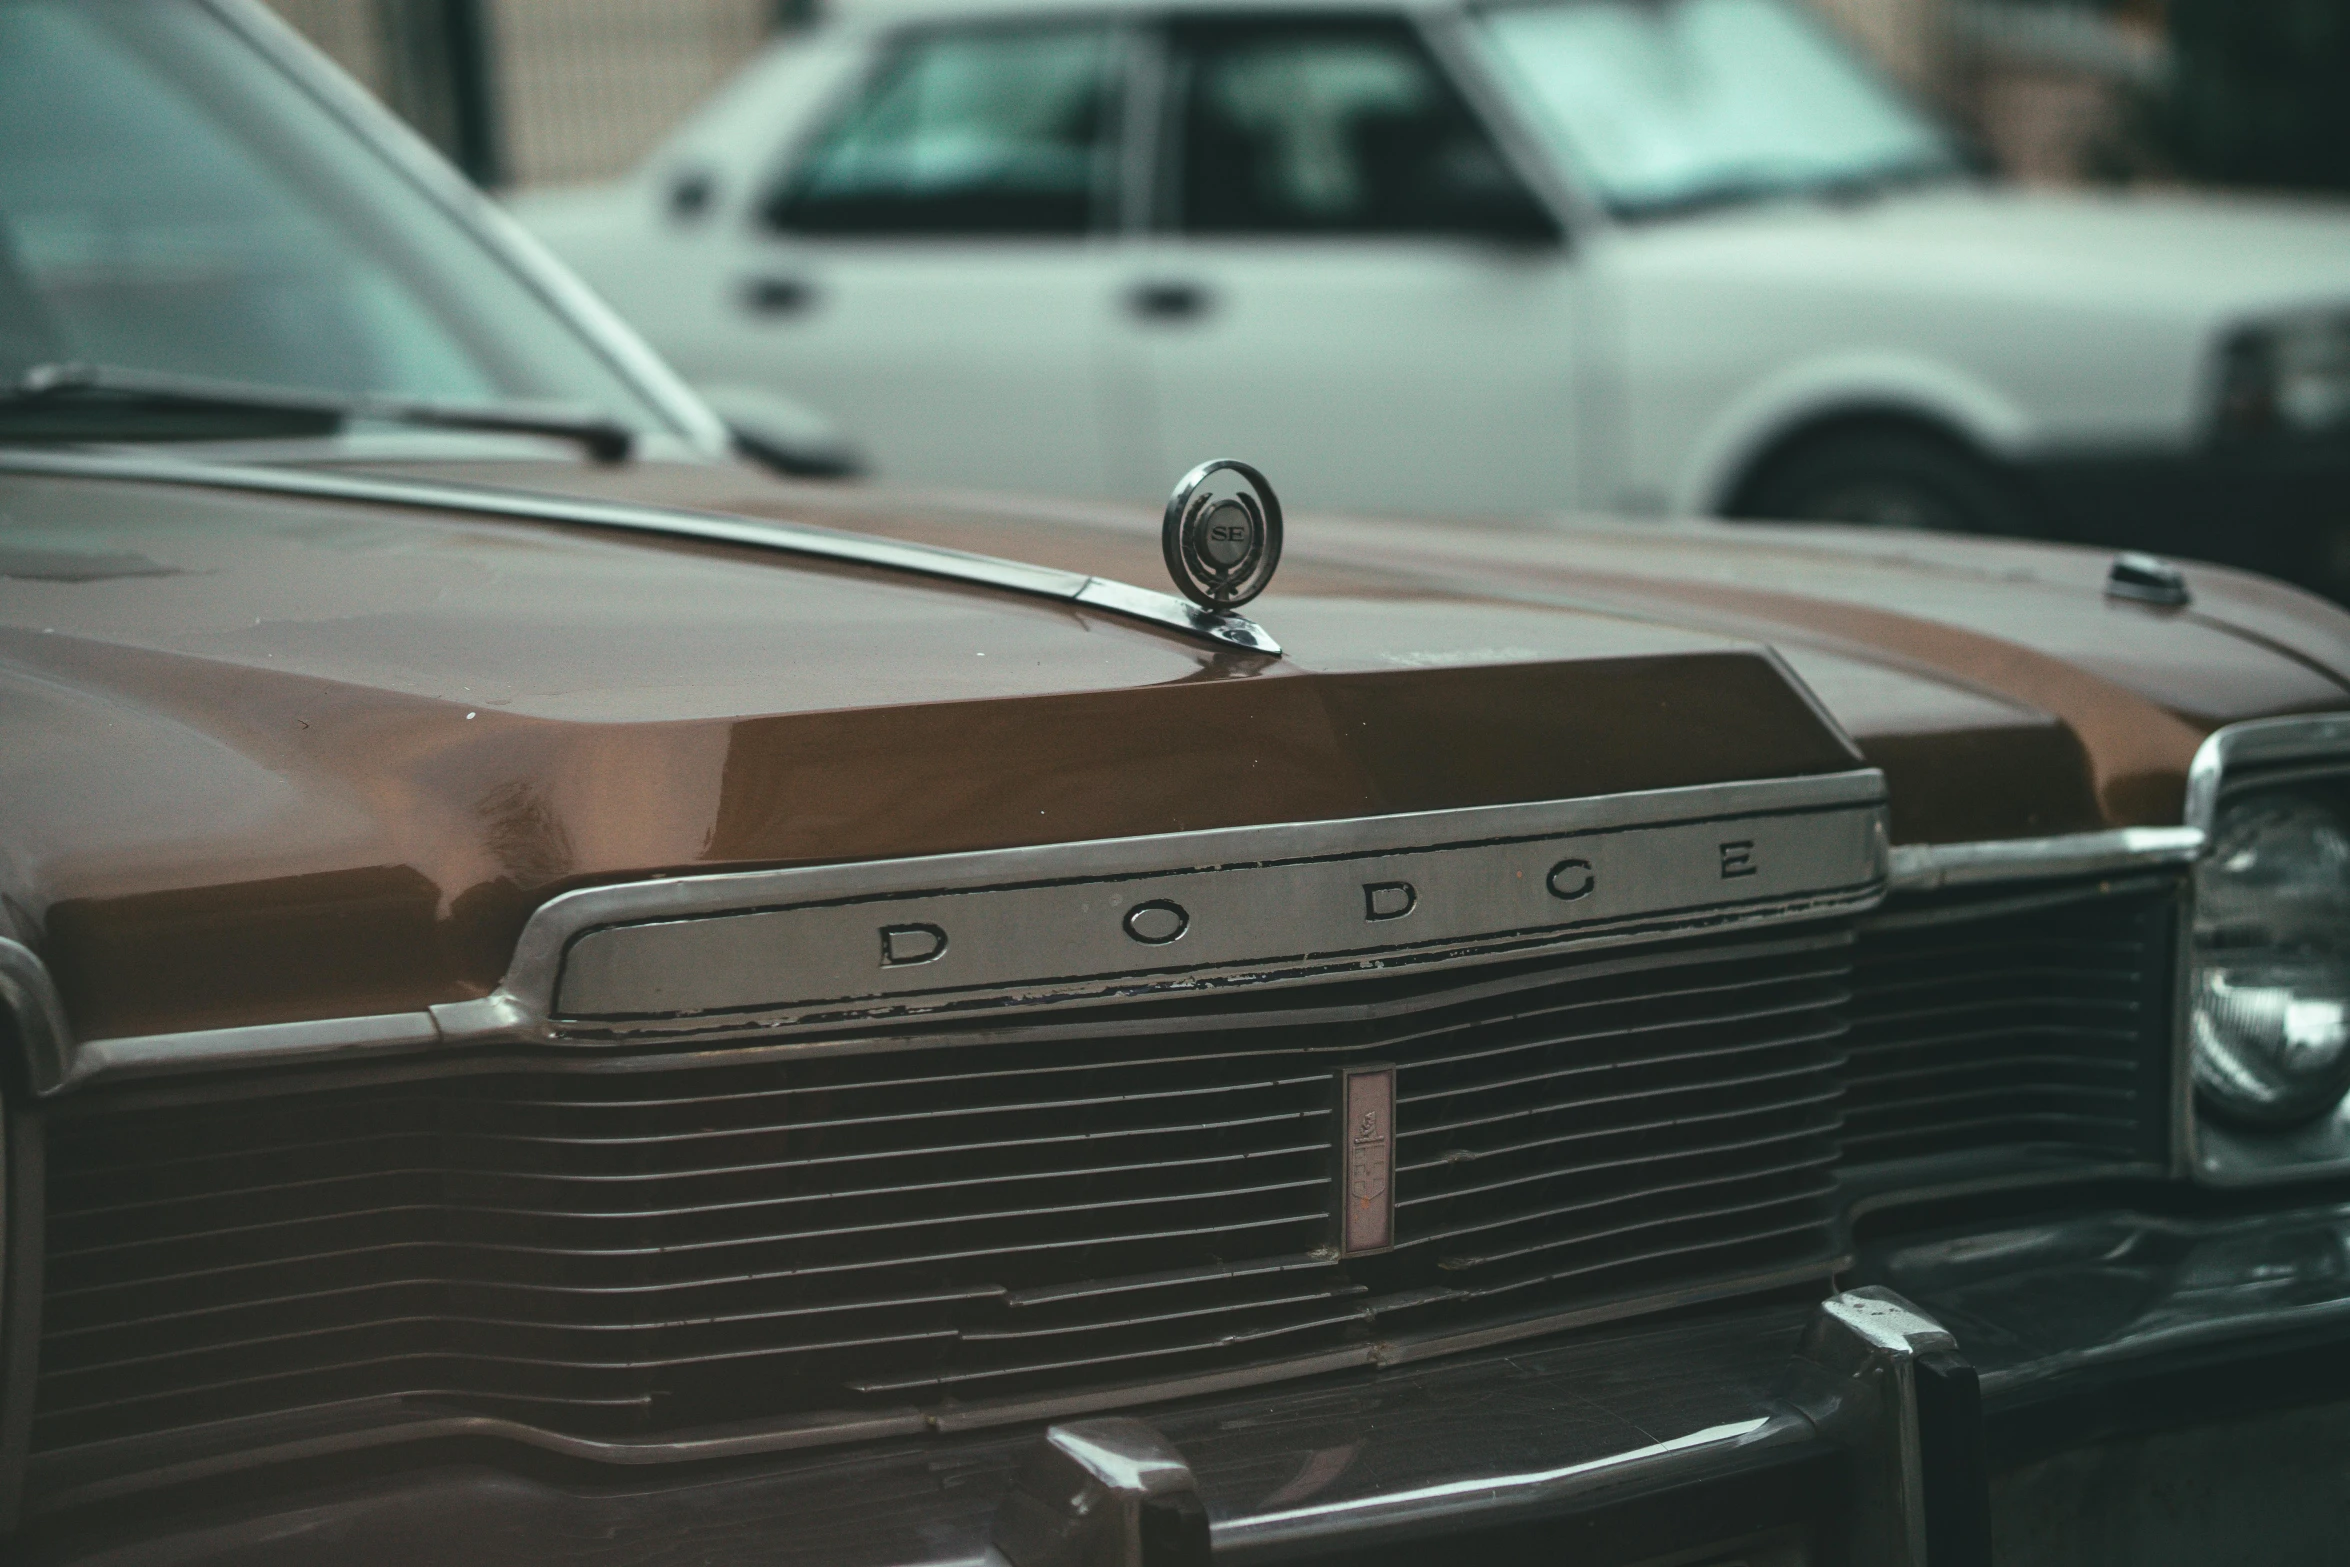
[[[1281,655],[1281,644],[1267,630],[1241,616],[1210,616],[1189,599],[1133,587],[1109,578],[1050,566],[1027,566],[992,554],[966,554],[935,545],[909,545],[893,538],[818,529],[804,522],[764,522],[719,512],[689,512],[665,505],[620,500],[576,500],[529,491],[491,489],[486,484],[451,484],[446,479],[385,479],[317,470],[254,468],[244,463],[190,463],[148,453],[70,453],[70,451],[0,451],[0,472],[31,472],[70,479],[120,479],[129,484],[190,484],[200,489],[237,489],[268,496],[310,496],[320,500],[357,500],[364,505],[407,505],[477,517],[515,517],[578,529],[620,529],[665,538],[705,538],[726,545],[780,550],[855,566],[881,566],[916,576],[971,583],[1003,592],[1079,604],[1130,620],[1147,620],[1189,637],[1241,648],[1243,653]]]

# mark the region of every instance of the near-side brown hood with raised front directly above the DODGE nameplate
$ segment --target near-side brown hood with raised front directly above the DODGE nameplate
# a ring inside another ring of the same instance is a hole
[[[1323,599],[1269,660],[747,547],[92,479],[5,479],[0,543],[5,893],[85,1036],[479,996],[597,881],[1859,761],[1770,653],[1612,616]]]

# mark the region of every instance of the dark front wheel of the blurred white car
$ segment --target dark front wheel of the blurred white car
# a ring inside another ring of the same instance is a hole
[[[1998,472],[1918,430],[1854,430],[1795,446],[1746,484],[1730,515],[1934,533],[2037,531]]]

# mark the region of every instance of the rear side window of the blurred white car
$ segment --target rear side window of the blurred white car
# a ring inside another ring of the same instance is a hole
[[[928,33],[898,45],[766,204],[815,235],[1081,235],[1114,211],[1119,35]]]

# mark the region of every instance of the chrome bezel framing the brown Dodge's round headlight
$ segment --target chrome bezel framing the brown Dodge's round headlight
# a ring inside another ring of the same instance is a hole
[[[2197,888],[2209,897],[2211,876],[2221,874],[2214,855],[2225,853],[2230,818],[2242,811],[2287,801],[2308,801],[2329,811],[2350,834],[2350,714],[2308,719],[2256,719],[2214,733],[2188,773],[2186,820],[2202,829],[2204,855],[2197,862]],[[2350,888],[2345,888],[2350,895]],[[2174,1029],[2174,1081],[2178,1158],[2188,1175],[2211,1186],[2261,1186],[2350,1172],[2350,1064],[2341,1071],[2343,1092],[2331,1109],[2319,1109],[2289,1125],[2261,1125],[2256,1116],[2214,1114],[2209,1092],[2197,1088],[2197,1001],[2209,973],[2242,966],[2225,944],[2200,947],[2197,928],[2209,935],[2209,919],[2197,919],[2200,897],[2188,900],[2178,940],[2178,989]],[[2350,933],[2343,937],[2350,951]]]

